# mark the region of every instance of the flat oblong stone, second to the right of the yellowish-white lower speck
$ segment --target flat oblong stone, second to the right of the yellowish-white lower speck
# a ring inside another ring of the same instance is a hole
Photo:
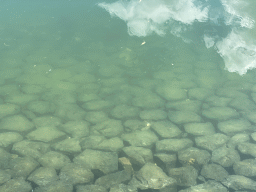
[[[187,133],[194,136],[213,135],[215,129],[212,123],[188,123],[184,125],[184,129]]]

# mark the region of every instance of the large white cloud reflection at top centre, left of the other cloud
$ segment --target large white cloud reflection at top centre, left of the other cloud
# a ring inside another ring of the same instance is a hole
[[[192,24],[195,20],[206,21],[208,17],[208,8],[194,5],[194,0],[132,0],[100,3],[99,6],[106,9],[111,16],[127,22],[129,35],[138,37],[150,35],[152,32],[164,35],[164,26],[170,20]]]

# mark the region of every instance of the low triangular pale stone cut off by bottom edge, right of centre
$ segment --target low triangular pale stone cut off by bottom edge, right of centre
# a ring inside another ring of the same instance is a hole
[[[228,192],[227,188],[220,183],[209,180],[203,184],[192,186],[188,189],[180,190],[179,192]]]

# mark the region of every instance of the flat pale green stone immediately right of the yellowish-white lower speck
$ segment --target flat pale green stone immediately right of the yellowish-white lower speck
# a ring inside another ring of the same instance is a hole
[[[170,121],[153,122],[151,128],[162,138],[178,137],[182,133],[182,131]]]

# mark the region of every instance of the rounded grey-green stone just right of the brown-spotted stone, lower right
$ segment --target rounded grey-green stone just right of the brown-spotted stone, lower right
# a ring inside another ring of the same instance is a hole
[[[223,167],[231,167],[235,162],[240,161],[240,155],[237,150],[223,146],[213,150],[211,160]]]

